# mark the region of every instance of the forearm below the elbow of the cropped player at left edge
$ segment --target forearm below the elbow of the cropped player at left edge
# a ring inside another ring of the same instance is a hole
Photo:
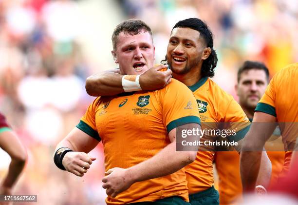
[[[3,180],[3,186],[12,188],[18,181],[19,175],[25,165],[25,160],[12,159],[9,165],[8,173]]]

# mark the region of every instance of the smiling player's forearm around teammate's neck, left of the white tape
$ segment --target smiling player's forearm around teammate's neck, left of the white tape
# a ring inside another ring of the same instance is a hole
[[[123,75],[113,72],[102,72],[86,80],[86,91],[91,96],[112,96],[123,93]]]

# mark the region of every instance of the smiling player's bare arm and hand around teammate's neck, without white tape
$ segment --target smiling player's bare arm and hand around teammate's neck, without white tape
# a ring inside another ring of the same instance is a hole
[[[166,86],[171,79],[171,70],[160,71],[167,68],[158,65],[150,68],[140,75],[139,82],[143,90],[158,90]],[[92,75],[86,80],[86,91],[91,96],[112,96],[123,93],[122,77],[119,69],[103,71]]]

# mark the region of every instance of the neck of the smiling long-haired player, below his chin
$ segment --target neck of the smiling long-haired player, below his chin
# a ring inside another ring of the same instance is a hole
[[[174,79],[183,82],[186,86],[191,86],[201,80],[201,68],[192,68],[186,74],[176,74],[173,72],[172,76]]]

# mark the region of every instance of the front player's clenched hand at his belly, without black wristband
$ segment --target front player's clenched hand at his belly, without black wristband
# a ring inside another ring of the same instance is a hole
[[[109,169],[105,174],[107,176],[102,178],[102,182],[104,183],[102,187],[106,188],[107,195],[113,198],[134,183],[128,169],[114,167]]]

